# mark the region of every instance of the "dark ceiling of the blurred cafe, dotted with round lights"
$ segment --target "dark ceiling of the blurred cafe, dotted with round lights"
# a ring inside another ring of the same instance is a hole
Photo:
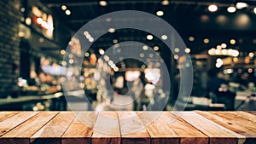
[[[162,5],[161,0],[108,0],[107,6],[101,6],[99,1],[92,0],[41,0],[53,14],[61,19],[64,25],[73,32],[77,32],[90,20],[109,12],[118,10],[139,10],[155,14],[156,11],[164,11],[162,19],[171,24],[183,37],[183,41],[191,49],[192,54],[199,54],[216,47],[220,43],[227,43],[228,47],[250,52],[256,49],[256,14],[253,8],[256,1],[243,1],[249,4],[246,9],[239,9],[236,13],[230,14],[227,8],[234,5],[236,0],[170,0],[168,5]],[[207,7],[211,3],[218,5],[218,11],[209,12]],[[61,5],[65,4],[71,10],[71,15],[65,14]],[[241,17],[246,17],[247,21]],[[113,46],[113,39],[119,42],[126,40],[137,40],[154,46],[160,43],[159,39],[148,42],[147,33],[134,30],[119,30],[108,33],[94,43],[94,46],[108,49]],[[190,42],[189,37],[195,37]],[[210,43],[203,43],[204,38],[209,38]],[[230,39],[235,38],[236,45],[230,45]],[[164,47],[159,44],[160,47]]]

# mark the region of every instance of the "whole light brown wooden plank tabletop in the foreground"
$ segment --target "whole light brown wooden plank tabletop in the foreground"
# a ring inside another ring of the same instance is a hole
[[[256,112],[0,112],[0,144],[23,143],[256,144]]]

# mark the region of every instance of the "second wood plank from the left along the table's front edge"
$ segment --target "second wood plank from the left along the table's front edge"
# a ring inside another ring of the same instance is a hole
[[[48,124],[31,137],[32,143],[61,144],[61,136],[73,122],[73,112],[60,112]]]

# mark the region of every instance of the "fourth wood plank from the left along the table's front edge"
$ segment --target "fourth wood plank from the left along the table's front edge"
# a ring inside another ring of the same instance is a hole
[[[121,142],[117,112],[99,112],[91,136],[92,144]]]

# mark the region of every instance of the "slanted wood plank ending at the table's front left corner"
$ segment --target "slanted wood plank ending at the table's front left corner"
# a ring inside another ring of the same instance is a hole
[[[26,122],[18,125],[15,129],[9,131],[0,138],[0,143],[8,144],[28,144],[30,137],[40,130],[44,124],[47,124],[50,119],[54,118],[58,112],[39,112]]]

